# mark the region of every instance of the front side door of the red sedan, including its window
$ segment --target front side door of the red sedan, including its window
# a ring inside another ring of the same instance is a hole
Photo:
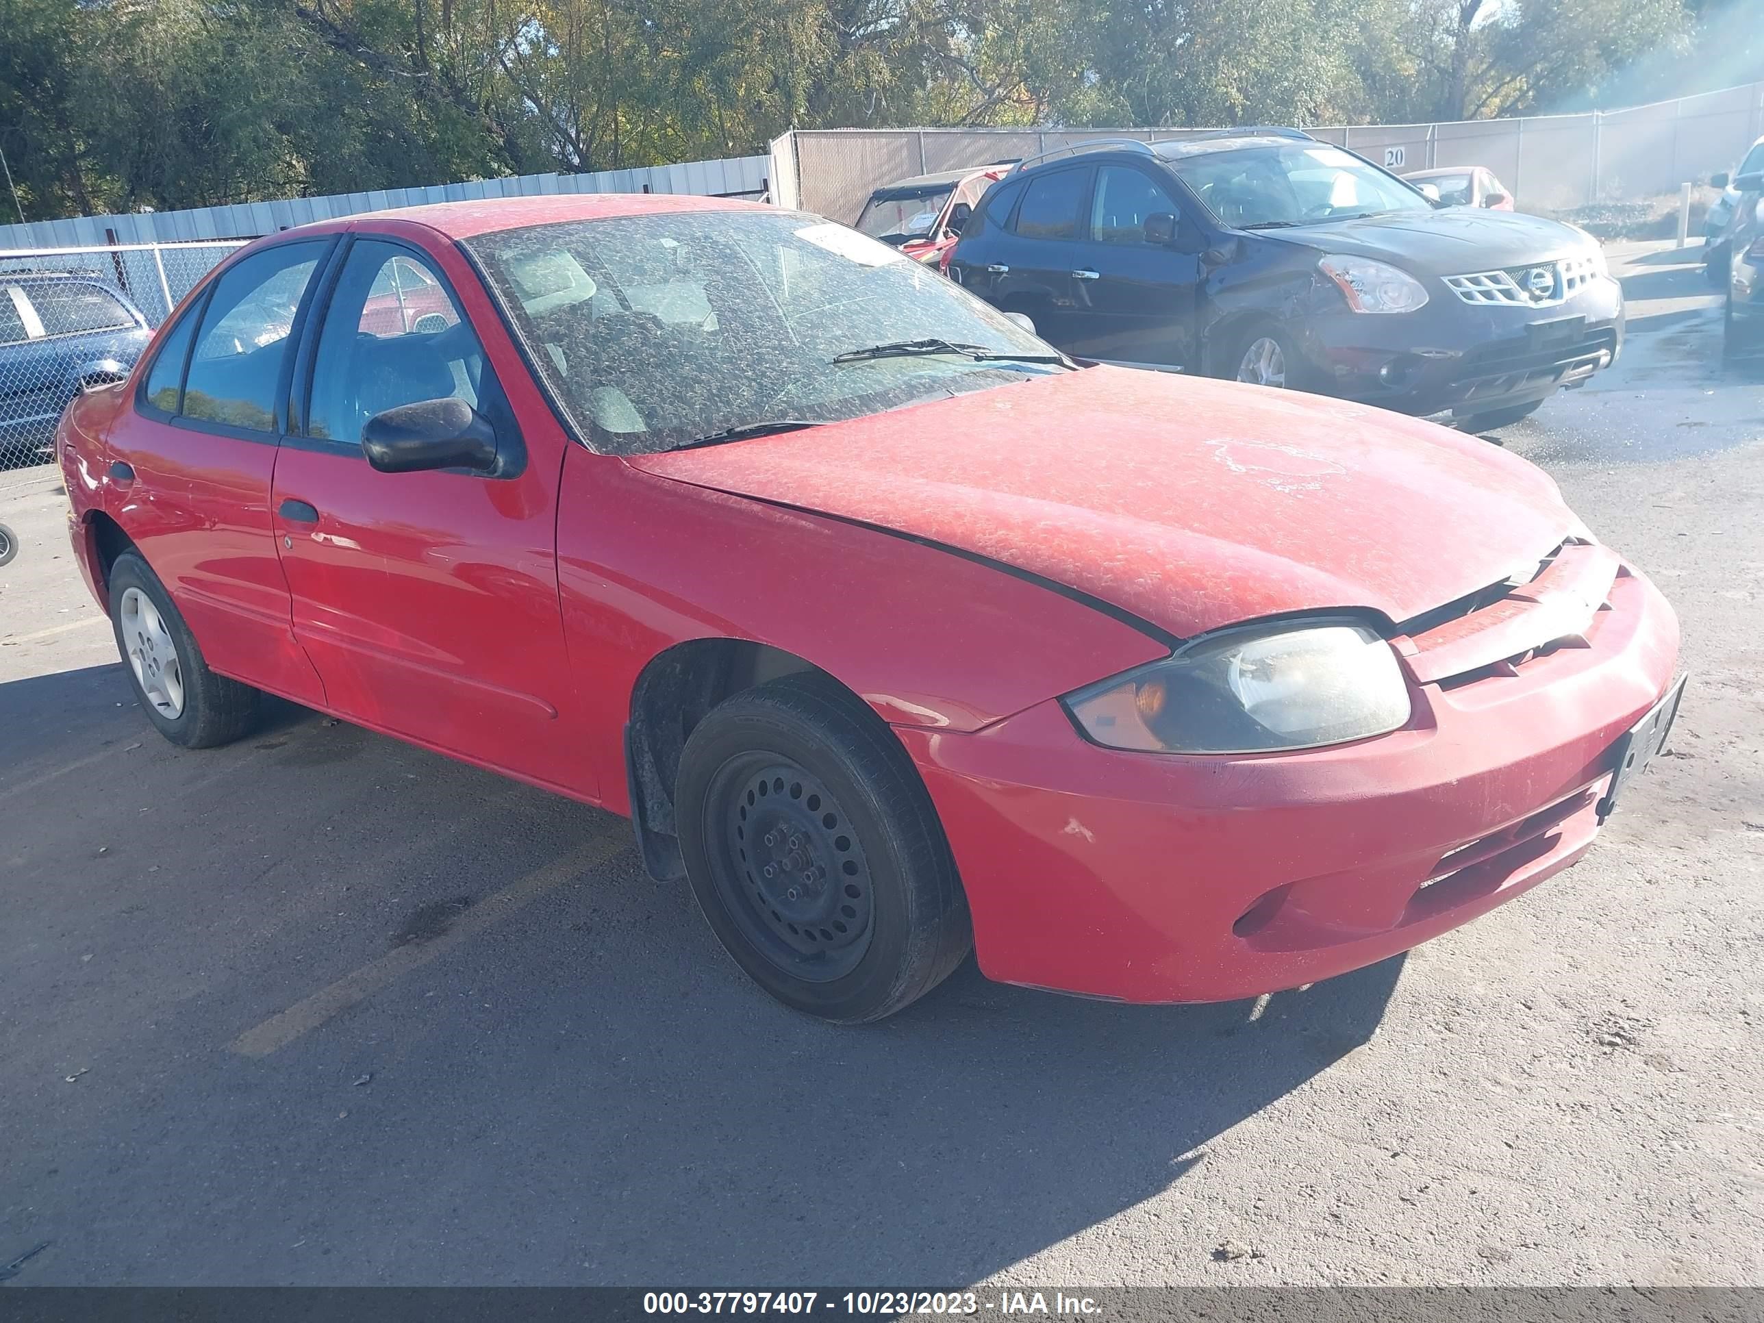
[[[272,512],[295,635],[330,707],[593,792],[559,720],[572,711],[554,554],[561,434],[517,429],[443,273],[386,238],[355,238],[295,379],[310,393],[282,441]],[[443,397],[494,423],[517,460],[506,475],[369,466],[370,416]]]

